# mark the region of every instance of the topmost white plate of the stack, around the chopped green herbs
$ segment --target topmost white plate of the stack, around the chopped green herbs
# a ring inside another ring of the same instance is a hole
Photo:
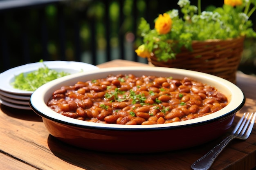
[[[18,95],[31,95],[33,91],[23,91],[13,88],[13,86],[11,86],[11,83],[14,82],[14,78],[16,75],[19,75],[20,73],[29,73],[31,71],[38,70],[38,68],[44,66],[43,64],[55,71],[64,71],[70,74],[99,69],[97,66],[94,66],[92,64],[70,61],[45,61],[43,63],[36,62],[31,64],[25,64],[22,66],[11,68],[0,74],[0,79],[2,81],[0,84],[0,90]]]

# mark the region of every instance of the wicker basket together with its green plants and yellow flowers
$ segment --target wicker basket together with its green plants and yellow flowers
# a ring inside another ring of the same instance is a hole
[[[256,38],[249,20],[256,1],[224,0],[222,7],[202,12],[200,0],[198,7],[189,0],[177,4],[183,16],[177,9],[160,14],[153,29],[141,18],[143,44],[135,50],[137,55],[155,66],[201,71],[235,82],[244,38]]]

